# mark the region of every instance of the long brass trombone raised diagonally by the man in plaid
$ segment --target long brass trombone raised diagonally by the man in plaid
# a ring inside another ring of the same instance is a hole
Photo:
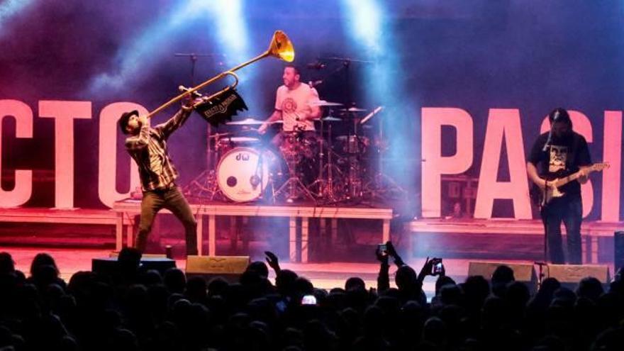
[[[234,78],[234,83],[230,84],[228,87],[221,89],[220,91],[217,91],[215,94],[212,94],[211,96],[208,96],[207,98],[204,98],[204,100],[210,101],[210,99],[213,99],[214,97],[225,93],[225,91],[229,91],[230,89],[235,89],[235,87],[238,85],[238,76],[234,73],[234,71],[237,71],[238,69],[241,69],[247,65],[250,65],[253,62],[256,62],[258,60],[262,60],[264,57],[267,57],[267,56],[277,57],[286,62],[293,62],[293,60],[295,59],[295,50],[294,50],[293,43],[289,40],[288,35],[286,35],[286,33],[284,33],[282,30],[276,30],[275,33],[273,33],[273,38],[271,39],[271,43],[269,43],[269,48],[267,49],[267,51],[263,52],[260,55],[257,55],[256,57],[252,58],[249,61],[243,62],[240,65],[232,69],[229,69],[228,71],[217,74],[216,76],[212,77],[211,79],[206,80],[206,82],[203,82],[197,85],[196,87],[192,87],[191,89],[185,89],[182,94],[179,94],[173,99],[165,102],[165,104],[162,104],[160,107],[156,108],[154,111],[148,113],[147,116],[145,117],[152,118],[152,116],[154,116],[156,113],[159,113],[160,111],[169,107],[174,102],[179,101],[180,99],[183,99],[184,96],[193,94],[195,91],[198,91],[199,89],[204,88],[208,86],[209,84],[212,84],[213,82],[217,81],[218,79],[222,79],[223,77],[228,76],[228,75]]]

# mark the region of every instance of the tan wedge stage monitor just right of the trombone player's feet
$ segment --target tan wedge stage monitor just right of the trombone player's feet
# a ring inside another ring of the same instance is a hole
[[[240,274],[249,265],[249,256],[189,256],[186,257],[186,277],[223,277],[228,282],[238,282]]]

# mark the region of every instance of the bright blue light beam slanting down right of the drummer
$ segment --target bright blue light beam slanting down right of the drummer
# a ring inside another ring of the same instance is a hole
[[[377,119],[383,119],[384,137],[389,149],[384,158],[384,173],[412,191],[416,176],[415,162],[406,158],[415,155],[417,140],[413,138],[413,121],[416,119],[416,96],[407,94],[404,72],[401,67],[401,43],[394,33],[393,18],[389,16],[381,0],[342,0],[343,17],[347,23],[347,35],[354,41],[355,49],[361,52],[368,107],[383,105],[384,112]],[[407,50],[407,48],[405,49]],[[416,50],[416,48],[409,48]]]

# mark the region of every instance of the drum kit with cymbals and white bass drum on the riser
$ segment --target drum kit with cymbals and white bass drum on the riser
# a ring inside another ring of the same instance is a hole
[[[316,131],[281,132],[277,147],[252,134],[265,121],[245,118],[225,123],[231,131],[208,136],[216,166],[185,186],[186,196],[234,203],[340,205],[406,195],[381,170],[385,143],[361,132],[365,129],[362,121],[368,121],[380,108],[364,116],[368,111],[355,106],[340,108],[340,103],[323,100],[312,104],[330,108],[328,116],[315,121]],[[333,116],[333,111],[340,117]],[[334,136],[336,128],[348,133]],[[377,164],[374,157],[379,159]],[[389,182],[384,184],[382,179]]]

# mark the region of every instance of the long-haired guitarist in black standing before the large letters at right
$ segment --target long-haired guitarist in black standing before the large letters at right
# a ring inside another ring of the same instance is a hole
[[[561,223],[567,233],[567,262],[581,264],[581,184],[587,182],[591,157],[587,141],[572,130],[572,121],[564,108],[555,108],[548,115],[550,132],[540,135],[531,149],[527,162],[527,173],[531,181],[542,192],[548,180],[566,177],[580,172],[577,181],[559,186],[564,196],[556,197],[542,205],[541,215],[546,231],[547,251],[550,262],[562,264]],[[538,168],[540,167],[539,171]]]

